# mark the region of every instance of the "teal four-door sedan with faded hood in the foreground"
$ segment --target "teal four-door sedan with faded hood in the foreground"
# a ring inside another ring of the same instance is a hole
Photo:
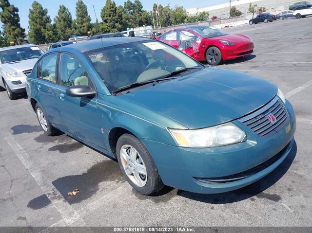
[[[130,185],[221,193],[289,154],[292,105],[271,82],[205,67],[162,42],[106,38],[49,50],[26,91],[47,135],[62,131],[117,159]]]

